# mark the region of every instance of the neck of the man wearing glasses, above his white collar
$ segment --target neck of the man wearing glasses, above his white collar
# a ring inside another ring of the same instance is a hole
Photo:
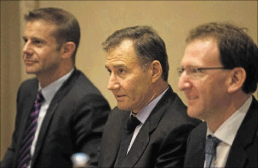
[[[215,132],[230,116],[232,116],[249,98],[251,94],[234,94],[229,100],[229,104],[222,107],[216,114],[212,115],[207,124],[212,132]]]

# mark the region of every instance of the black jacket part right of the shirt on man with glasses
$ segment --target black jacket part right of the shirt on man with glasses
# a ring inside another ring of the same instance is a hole
[[[237,131],[226,167],[258,167],[258,102],[253,97],[251,106]]]

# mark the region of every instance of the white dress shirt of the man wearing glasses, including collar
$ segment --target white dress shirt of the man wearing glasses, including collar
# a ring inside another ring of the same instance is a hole
[[[221,140],[216,148],[216,156],[212,159],[211,167],[225,167],[236,133],[246,116],[251,102],[252,96],[250,96],[245,103],[215,131],[215,133],[207,126],[206,137],[212,135]]]

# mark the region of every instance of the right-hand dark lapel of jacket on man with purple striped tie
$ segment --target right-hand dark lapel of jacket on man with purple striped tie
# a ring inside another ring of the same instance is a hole
[[[79,71],[74,70],[72,75],[68,78],[68,80],[66,82],[63,83],[63,85],[56,92],[53,100],[51,101],[51,103],[50,103],[50,105],[47,109],[46,116],[45,116],[45,118],[42,122],[39,135],[38,135],[38,140],[37,140],[35,152],[34,152],[34,155],[33,155],[33,158],[32,158],[32,167],[35,163],[35,160],[37,159],[37,156],[38,156],[39,152],[41,151],[42,144],[43,144],[43,142],[45,140],[45,136],[47,134],[47,130],[49,130],[49,126],[50,126],[50,123],[52,121],[52,117],[53,117],[54,113],[56,112],[56,109],[59,105],[59,102],[67,94],[67,92],[70,90],[70,88],[73,86],[73,83],[77,79],[79,73],[80,73]]]

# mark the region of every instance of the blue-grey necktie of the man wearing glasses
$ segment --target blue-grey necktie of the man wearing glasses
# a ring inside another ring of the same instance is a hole
[[[221,141],[216,137],[208,135],[205,145],[205,167],[210,167],[213,156],[216,156],[216,147]]]

